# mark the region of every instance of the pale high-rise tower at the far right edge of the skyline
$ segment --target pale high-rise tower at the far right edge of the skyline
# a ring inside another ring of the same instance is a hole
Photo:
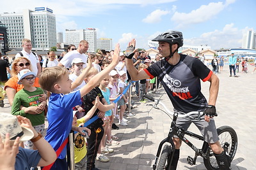
[[[243,35],[242,48],[256,48],[256,32],[253,29],[248,29],[246,34]]]

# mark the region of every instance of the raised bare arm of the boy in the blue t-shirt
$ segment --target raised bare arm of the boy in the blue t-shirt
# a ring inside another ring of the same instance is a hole
[[[117,44],[115,46],[115,52],[112,57],[111,64],[109,64],[109,66],[106,67],[104,70],[100,71],[100,73],[93,76],[92,80],[90,80],[86,85],[84,85],[84,87],[81,88],[81,90],[80,90],[81,96],[88,94],[88,92],[90,92],[94,87],[99,85],[100,81],[104,77],[106,77],[112,69],[115,68],[115,66],[118,64],[118,62],[120,60],[119,52],[120,52],[120,45]]]

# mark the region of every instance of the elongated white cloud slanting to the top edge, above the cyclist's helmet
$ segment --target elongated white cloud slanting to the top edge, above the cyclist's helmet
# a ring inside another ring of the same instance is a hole
[[[235,1],[236,0],[227,0],[226,4],[223,4],[222,2],[209,3],[207,5],[200,6],[200,8],[193,10],[190,13],[179,13],[176,11],[171,19],[178,24],[177,28],[202,23],[207,20],[211,20],[211,18],[218,15],[218,13],[224,10],[225,7]]]

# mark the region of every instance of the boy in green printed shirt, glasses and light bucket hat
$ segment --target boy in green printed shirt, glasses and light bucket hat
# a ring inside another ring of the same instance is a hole
[[[44,108],[46,101],[40,103],[38,98],[40,94],[44,94],[44,91],[39,87],[33,87],[36,74],[29,69],[22,69],[18,73],[18,78],[18,84],[22,84],[24,88],[15,94],[12,115],[20,115],[28,118],[36,129],[36,132],[43,134],[45,129]],[[31,141],[25,141],[24,147],[28,149],[34,148]]]

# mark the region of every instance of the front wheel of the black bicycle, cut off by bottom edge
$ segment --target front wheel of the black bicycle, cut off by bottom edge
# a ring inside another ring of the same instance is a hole
[[[172,153],[172,146],[171,145],[164,145],[164,148],[161,152],[159,161],[157,163],[157,170],[164,170],[168,164],[168,158]]]

